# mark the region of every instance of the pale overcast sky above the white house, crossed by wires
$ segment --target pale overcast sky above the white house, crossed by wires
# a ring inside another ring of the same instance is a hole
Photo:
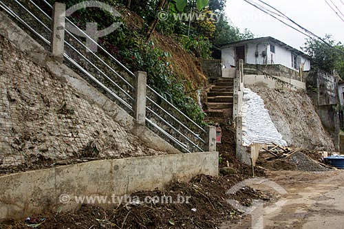
[[[325,34],[332,34],[335,41],[344,43],[344,21],[341,21],[325,0],[263,1],[277,8],[277,10],[317,36],[324,37]],[[344,14],[344,0],[327,0],[327,2],[331,3],[330,1],[333,1]],[[255,2],[258,2],[258,0],[255,0]],[[337,11],[336,8],[334,9]],[[248,28],[257,37],[272,36],[298,50],[304,46],[305,35],[288,28],[287,25],[283,25],[277,19],[261,12],[244,0],[228,0],[226,16],[230,18],[235,26],[241,30]]]

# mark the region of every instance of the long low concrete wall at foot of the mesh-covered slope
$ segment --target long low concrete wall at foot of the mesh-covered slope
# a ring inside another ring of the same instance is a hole
[[[0,177],[0,220],[80,206],[74,196],[130,194],[164,188],[173,178],[187,182],[198,174],[218,175],[217,152],[102,160]],[[71,200],[61,204],[60,196]],[[105,206],[104,206],[105,205]],[[113,204],[103,204],[111,207]]]

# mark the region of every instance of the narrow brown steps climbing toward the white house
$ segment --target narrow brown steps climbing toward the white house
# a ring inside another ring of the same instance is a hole
[[[219,78],[207,94],[208,116],[232,118],[233,78]]]

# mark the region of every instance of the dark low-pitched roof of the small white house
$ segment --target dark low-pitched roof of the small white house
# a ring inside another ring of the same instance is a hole
[[[271,42],[271,43],[275,43],[275,44],[285,48],[286,50],[290,50],[294,54],[304,56],[305,58],[311,58],[310,56],[308,56],[304,52],[301,52],[300,50],[297,50],[296,48],[291,47],[290,45],[287,45],[286,43],[284,43],[282,41],[274,39],[272,36],[259,37],[257,39],[247,39],[247,40],[242,40],[242,41],[235,41],[232,43],[226,43],[226,44],[219,45],[219,47],[224,48],[224,47],[237,46],[237,45],[246,45],[247,43],[252,43],[252,42],[259,43],[259,42],[266,42],[266,41]]]

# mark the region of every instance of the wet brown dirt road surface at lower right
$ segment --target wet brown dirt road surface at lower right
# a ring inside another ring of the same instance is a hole
[[[266,179],[287,193],[276,194],[274,201],[264,204],[264,228],[344,228],[344,171],[269,171]],[[276,189],[266,184],[254,188]],[[252,227],[251,217],[246,216],[239,224],[227,228],[262,228],[262,224]]]

